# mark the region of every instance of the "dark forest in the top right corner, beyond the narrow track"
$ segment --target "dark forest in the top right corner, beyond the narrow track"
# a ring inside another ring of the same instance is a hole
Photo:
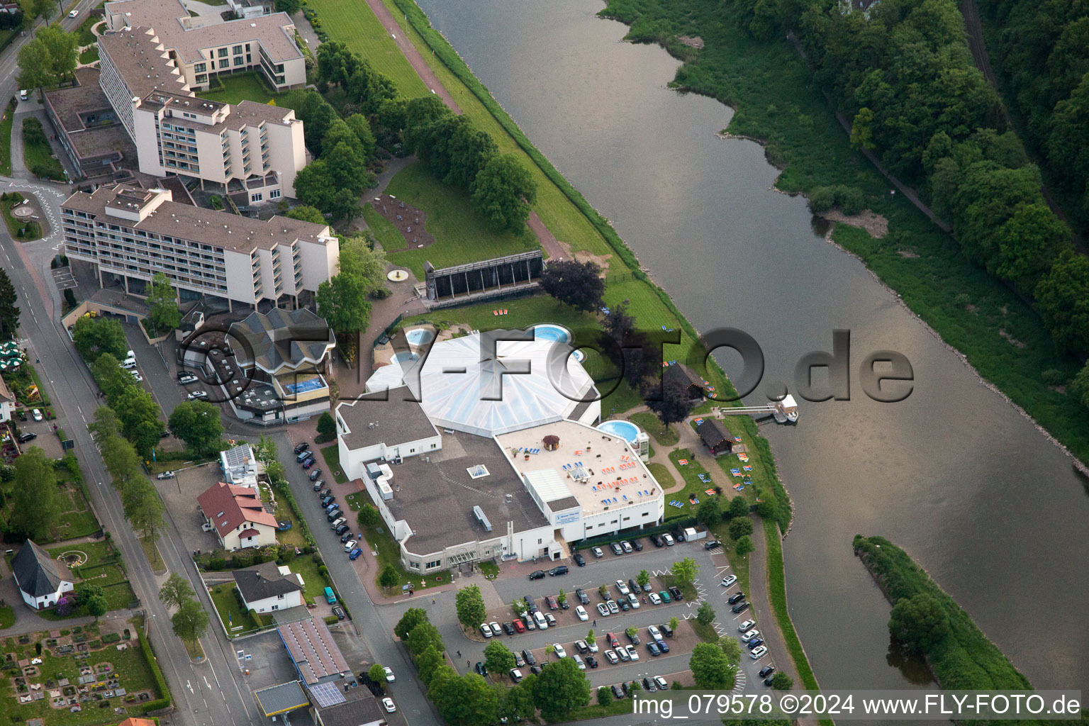
[[[1025,140],[1089,223],[1089,1],[980,0],[980,10],[996,28],[988,50]]]

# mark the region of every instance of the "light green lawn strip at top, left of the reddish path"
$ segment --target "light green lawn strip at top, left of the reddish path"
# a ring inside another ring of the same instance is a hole
[[[408,64],[375,13],[364,2],[350,0],[308,0],[307,5],[321,19],[321,29],[334,40],[358,51],[376,71],[388,75],[405,98],[430,93]]]

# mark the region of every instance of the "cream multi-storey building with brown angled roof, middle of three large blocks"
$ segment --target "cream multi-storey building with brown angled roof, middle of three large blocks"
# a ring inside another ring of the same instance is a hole
[[[224,194],[244,189],[252,204],[294,196],[307,159],[293,110],[196,98],[148,27],[100,37],[99,56],[100,85],[136,145],[142,172],[193,176]]]

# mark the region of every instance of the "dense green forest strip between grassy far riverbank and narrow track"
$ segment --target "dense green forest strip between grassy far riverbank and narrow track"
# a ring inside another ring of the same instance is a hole
[[[1040,170],[1005,127],[999,96],[969,53],[954,0],[880,0],[865,12],[847,0],[731,2],[755,37],[792,33],[820,86],[852,121],[852,143],[919,188],[952,223],[967,259],[1033,300],[1060,349],[1089,354],[1089,260],[1074,253],[1069,229],[1043,198]],[[1089,23],[1082,26],[1089,33]],[[1089,57],[1089,45],[1073,45]],[[1048,60],[1041,63],[1049,85]],[[1062,87],[1070,87],[1069,65],[1055,72]],[[1089,109],[1089,79],[1079,83]],[[1064,161],[1089,158],[1085,110],[1064,107],[1062,113],[1056,109],[1055,119],[1079,118],[1082,130],[1063,132],[1072,135]],[[1085,384],[1076,387],[1089,404],[1089,370],[1077,383]]]

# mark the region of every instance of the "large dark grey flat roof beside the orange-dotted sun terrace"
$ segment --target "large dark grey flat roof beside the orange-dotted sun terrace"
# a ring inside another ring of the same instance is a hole
[[[391,467],[393,499],[386,502],[395,519],[404,519],[415,532],[405,547],[426,555],[475,540],[502,537],[506,522],[514,531],[548,524],[522,478],[495,441],[456,431],[442,434],[442,448],[404,459]],[[473,479],[468,469],[484,465],[487,477]],[[511,494],[511,503],[506,502]],[[491,522],[488,532],[473,515],[479,506]]]

